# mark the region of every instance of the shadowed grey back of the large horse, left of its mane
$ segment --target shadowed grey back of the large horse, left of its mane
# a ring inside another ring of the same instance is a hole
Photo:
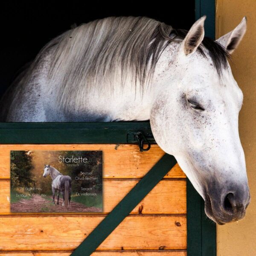
[[[53,47],[52,47],[53,48]],[[0,122],[46,122],[51,48],[24,67],[0,99]],[[46,96],[47,95],[47,96]],[[54,95],[55,96],[55,95]]]

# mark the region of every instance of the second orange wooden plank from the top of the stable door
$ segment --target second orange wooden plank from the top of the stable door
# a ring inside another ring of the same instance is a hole
[[[103,180],[103,211],[105,213],[111,212],[116,204],[125,197],[137,182],[139,182],[139,180]],[[15,214],[10,212],[10,180],[0,180],[0,191],[0,215]],[[160,183],[158,183],[157,186],[155,186],[143,201],[141,201],[141,203],[131,212],[131,214],[139,213],[185,214],[186,180],[161,180]],[[55,214],[60,213],[56,212]]]

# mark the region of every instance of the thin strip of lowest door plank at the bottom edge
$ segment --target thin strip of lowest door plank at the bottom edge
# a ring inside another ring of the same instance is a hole
[[[72,251],[30,251],[30,252],[6,252],[1,256],[69,256]],[[121,250],[121,251],[98,251],[92,256],[186,256],[185,250]]]

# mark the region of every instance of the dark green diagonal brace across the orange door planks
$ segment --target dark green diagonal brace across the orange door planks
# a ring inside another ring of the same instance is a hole
[[[90,256],[176,163],[175,157],[165,154],[71,255]]]

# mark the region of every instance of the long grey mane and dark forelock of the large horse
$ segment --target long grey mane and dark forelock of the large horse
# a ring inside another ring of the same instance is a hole
[[[120,86],[128,79],[135,86],[140,84],[143,92],[163,50],[171,42],[181,41],[186,34],[186,30],[173,29],[147,17],[108,17],[82,24],[54,38],[39,52],[32,66],[49,53],[48,78],[50,83],[58,85],[57,100],[64,105],[67,95],[70,99],[79,95],[82,100],[85,93],[101,91],[105,84],[113,86],[117,77],[121,77],[117,81]],[[222,68],[227,67],[227,51],[207,37],[198,47],[207,58],[204,48],[220,76]],[[74,107],[81,103],[75,101]]]

